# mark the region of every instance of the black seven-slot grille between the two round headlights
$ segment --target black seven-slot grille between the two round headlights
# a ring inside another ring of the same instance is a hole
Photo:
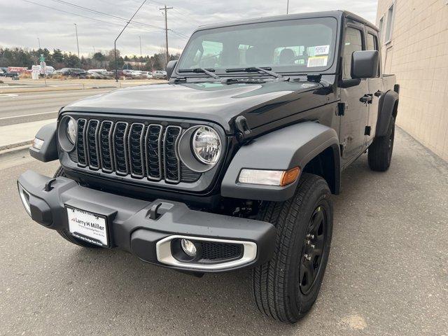
[[[78,119],[76,159],[79,167],[168,183],[194,182],[200,173],[179,160],[182,128],[159,124]]]

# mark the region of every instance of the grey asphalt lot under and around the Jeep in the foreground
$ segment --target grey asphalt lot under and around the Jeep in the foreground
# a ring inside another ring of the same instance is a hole
[[[263,317],[249,271],[202,279],[116,250],[90,250],[33,223],[0,163],[0,335],[447,335],[448,165],[398,130],[391,169],[363,155],[334,197],[330,262],[310,314]]]

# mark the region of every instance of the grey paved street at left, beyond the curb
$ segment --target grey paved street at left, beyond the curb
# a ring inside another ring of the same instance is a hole
[[[115,88],[0,94],[0,126],[56,118],[62,106],[111,90]]]

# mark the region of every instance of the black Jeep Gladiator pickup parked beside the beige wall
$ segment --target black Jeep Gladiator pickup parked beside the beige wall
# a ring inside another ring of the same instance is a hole
[[[169,83],[59,111],[18,179],[31,218],[73,244],[201,275],[253,269],[267,316],[294,323],[321,287],[341,172],[391,164],[399,86],[378,29],[344,11],[200,27]]]

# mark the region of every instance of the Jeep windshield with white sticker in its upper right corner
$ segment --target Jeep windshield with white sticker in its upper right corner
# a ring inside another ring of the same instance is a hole
[[[337,21],[314,18],[197,31],[177,69],[270,67],[276,72],[321,72],[335,55]]]

